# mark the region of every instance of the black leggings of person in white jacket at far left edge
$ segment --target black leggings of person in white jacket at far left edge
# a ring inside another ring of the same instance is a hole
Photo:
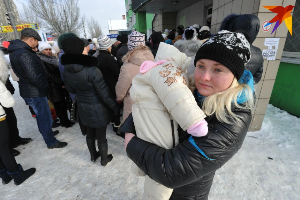
[[[0,121],[0,130],[0,170],[7,168],[9,172],[16,172],[19,167],[9,147],[7,120]]]

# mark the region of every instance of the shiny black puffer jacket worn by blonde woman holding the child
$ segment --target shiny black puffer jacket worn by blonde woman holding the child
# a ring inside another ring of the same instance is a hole
[[[241,126],[221,123],[212,115],[205,119],[209,130],[206,136],[190,137],[186,133],[187,137],[170,150],[133,137],[127,155],[150,178],[175,188],[171,200],[207,200],[215,171],[241,148],[250,126],[250,110],[233,107],[232,111],[241,118]],[[132,121],[129,115],[119,131],[134,132]]]

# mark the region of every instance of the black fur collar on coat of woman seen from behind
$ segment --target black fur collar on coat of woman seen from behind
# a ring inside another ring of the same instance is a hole
[[[80,64],[87,67],[97,67],[99,61],[95,57],[91,57],[84,54],[63,54],[61,57],[62,65],[66,64]]]

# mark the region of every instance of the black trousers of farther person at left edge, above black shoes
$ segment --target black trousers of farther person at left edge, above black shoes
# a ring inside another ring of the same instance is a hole
[[[17,118],[12,108],[3,107],[6,113],[6,121],[8,125],[8,134],[10,138],[10,145],[18,144],[21,137],[19,136],[19,130],[17,126]]]

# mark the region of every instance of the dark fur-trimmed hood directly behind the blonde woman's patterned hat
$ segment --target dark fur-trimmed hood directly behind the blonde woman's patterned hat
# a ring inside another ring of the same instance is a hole
[[[259,18],[253,14],[236,15],[231,14],[223,19],[220,31],[227,30],[235,32],[237,30],[246,31],[250,34],[249,43],[252,44],[259,32],[260,22]]]

